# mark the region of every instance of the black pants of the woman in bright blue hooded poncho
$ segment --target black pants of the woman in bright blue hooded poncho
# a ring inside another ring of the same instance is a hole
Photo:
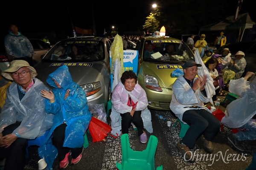
[[[79,148],[69,148],[69,147],[63,147],[64,139],[65,139],[65,131],[66,131],[66,124],[63,123],[55,128],[55,130],[52,133],[52,144],[57,148],[58,150],[58,159],[59,161],[62,161],[66,154],[71,151],[71,156],[73,159],[77,158],[80,153],[83,151],[83,147]]]

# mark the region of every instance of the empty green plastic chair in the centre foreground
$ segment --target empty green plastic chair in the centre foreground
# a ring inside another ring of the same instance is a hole
[[[122,163],[116,162],[118,170],[155,170],[154,155],[157,149],[158,139],[151,135],[148,140],[147,148],[143,151],[132,150],[129,144],[128,134],[122,134]],[[163,170],[163,165],[156,170]]]

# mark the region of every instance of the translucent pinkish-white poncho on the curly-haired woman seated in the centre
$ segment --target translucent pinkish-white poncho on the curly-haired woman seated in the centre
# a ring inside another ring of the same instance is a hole
[[[143,120],[144,128],[149,132],[153,133],[153,127],[151,122],[151,113],[148,110],[148,99],[146,96],[146,93],[144,89],[137,83],[135,85],[135,88],[133,91],[127,91],[122,84],[121,81],[119,81],[118,85],[113,90],[112,94],[112,111],[110,114],[111,118],[111,133],[118,134],[118,136],[121,134],[121,120],[122,117],[120,114],[131,112],[132,106],[128,106],[128,94],[130,95],[132,101],[134,103],[137,103],[136,111],[142,111],[141,118]]]

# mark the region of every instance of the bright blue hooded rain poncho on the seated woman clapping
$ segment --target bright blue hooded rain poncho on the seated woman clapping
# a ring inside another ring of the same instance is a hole
[[[57,88],[54,79],[61,88]],[[53,113],[53,126],[47,136],[45,145],[38,148],[41,158],[44,158],[48,169],[52,169],[52,164],[58,155],[57,149],[52,145],[53,130],[66,122],[64,147],[77,148],[84,144],[84,133],[86,132],[92,114],[88,111],[87,99],[84,90],[73,82],[71,74],[66,65],[57,68],[49,74],[47,83],[54,87],[52,93],[55,95],[55,102],[50,103],[45,99],[47,113]],[[67,90],[70,90],[69,96],[64,100]]]

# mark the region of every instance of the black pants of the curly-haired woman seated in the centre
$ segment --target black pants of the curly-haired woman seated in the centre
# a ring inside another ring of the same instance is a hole
[[[138,136],[140,136],[143,133],[144,125],[143,125],[143,120],[141,118],[141,111],[135,111],[133,116],[131,116],[130,112],[126,112],[120,115],[122,117],[122,121],[121,121],[122,134],[125,134],[125,133],[128,134],[128,130],[129,130],[129,127],[131,126],[131,122],[133,122],[134,125],[138,128]]]

